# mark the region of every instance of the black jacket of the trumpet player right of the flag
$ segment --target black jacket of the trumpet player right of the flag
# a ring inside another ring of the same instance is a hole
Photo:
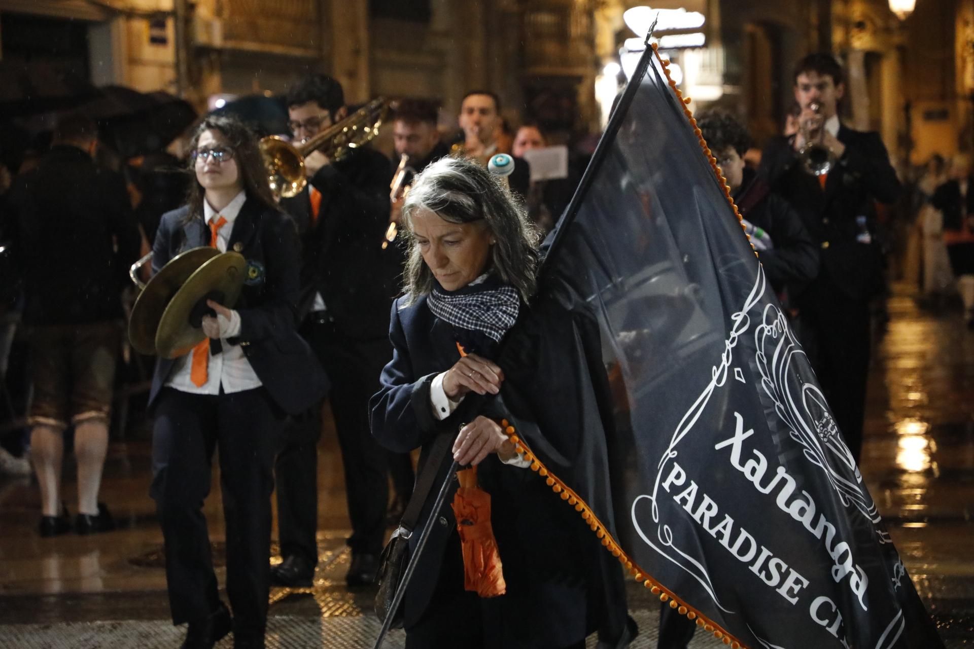
[[[900,182],[879,133],[843,125],[837,137],[845,152],[829,171],[824,190],[818,178],[803,168],[793,138],[777,137],[768,143],[761,171],[772,191],[798,210],[819,245],[821,268],[816,282],[850,299],[868,300],[879,290],[882,272],[874,201],[896,200]],[[869,243],[858,240],[864,233],[857,216],[866,217],[866,228],[873,233]],[[798,287],[795,297],[801,302]]]

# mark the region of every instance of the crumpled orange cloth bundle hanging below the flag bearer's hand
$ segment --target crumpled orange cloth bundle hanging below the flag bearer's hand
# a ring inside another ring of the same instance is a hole
[[[453,515],[464,550],[464,588],[481,597],[504,595],[504,567],[490,523],[490,494],[477,487],[477,468],[457,472],[460,488],[453,497]]]

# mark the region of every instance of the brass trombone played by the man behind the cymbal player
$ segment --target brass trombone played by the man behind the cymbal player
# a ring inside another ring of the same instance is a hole
[[[341,160],[372,141],[388,113],[389,102],[380,97],[297,146],[277,135],[262,138],[260,153],[267,167],[271,191],[279,198],[297,196],[308,184],[304,160],[309,154],[321,151],[332,162]]]

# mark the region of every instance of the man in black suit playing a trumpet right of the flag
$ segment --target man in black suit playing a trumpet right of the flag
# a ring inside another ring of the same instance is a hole
[[[882,253],[876,240],[877,201],[892,203],[900,181],[879,133],[844,126],[837,113],[845,86],[831,54],[809,54],[795,68],[795,98],[802,128],[771,140],[760,171],[771,189],[798,211],[819,247],[818,276],[796,288],[798,332],[835,423],[858,461],[871,345],[870,301],[883,290]],[[811,104],[821,106],[820,113]],[[820,139],[833,163],[818,176],[799,152]]]

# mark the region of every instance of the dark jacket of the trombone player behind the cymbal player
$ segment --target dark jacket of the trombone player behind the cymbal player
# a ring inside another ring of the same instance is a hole
[[[336,329],[348,338],[385,338],[389,307],[399,291],[402,250],[385,249],[389,228],[389,159],[368,147],[321,167],[310,184],[321,193],[318,219],[311,216],[309,189],[281,200],[302,235],[299,313],[320,293]]]

